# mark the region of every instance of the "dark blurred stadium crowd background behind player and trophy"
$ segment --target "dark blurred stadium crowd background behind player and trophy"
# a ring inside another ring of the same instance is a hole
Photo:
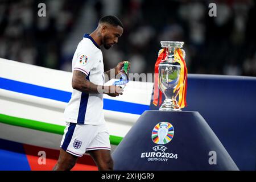
[[[46,4],[46,17],[38,4]],[[217,17],[208,15],[217,4]],[[255,2],[50,0],[0,1],[0,57],[71,72],[85,32],[103,15],[122,20],[119,43],[104,51],[105,69],[130,60],[131,72],[153,73],[160,40],[184,41],[188,73],[256,76]]]

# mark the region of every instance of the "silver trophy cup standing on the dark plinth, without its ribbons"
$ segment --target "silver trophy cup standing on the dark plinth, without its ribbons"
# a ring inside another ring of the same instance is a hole
[[[179,93],[177,90],[174,92],[180,78],[180,64],[174,61],[174,51],[176,48],[182,48],[184,42],[161,41],[160,43],[163,48],[167,48],[167,56],[159,64],[158,84],[160,90],[166,96],[159,110],[181,111],[176,100]],[[183,59],[185,59],[185,51],[181,50],[183,51]]]

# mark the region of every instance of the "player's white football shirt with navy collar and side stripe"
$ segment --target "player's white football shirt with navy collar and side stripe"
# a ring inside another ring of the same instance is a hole
[[[104,85],[104,64],[100,47],[88,34],[78,44],[72,60],[74,70],[85,73],[86,79],[96,85]],[[105,123],[103,94],[91,94],[73,89],[64,111],[64,121],[88,125]]]

